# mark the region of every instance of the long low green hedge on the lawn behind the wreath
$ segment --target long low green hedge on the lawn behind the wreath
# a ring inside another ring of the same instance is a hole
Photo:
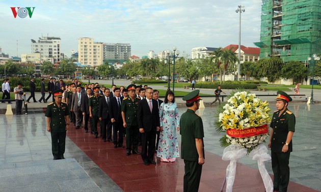
[[[217,89],[219,85],[219,82],[199,82],[195,83],[195,88]],[[222,89],[236,89],[240,87],[244,89],[257,89],[256,84],[245,83],[243,81],[226,81],[224,84],[221,85]]]

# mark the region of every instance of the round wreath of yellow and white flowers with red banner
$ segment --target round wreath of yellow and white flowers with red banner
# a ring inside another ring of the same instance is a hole
[[[239,145],[250,153],[269,136],[269,103],[244,90],[231,92],[227,99],[227,104],[219,107],[215,122],[217,132],[226,132],[221,146]]]

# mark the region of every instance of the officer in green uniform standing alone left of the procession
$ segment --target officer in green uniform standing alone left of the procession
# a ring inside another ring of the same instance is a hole
[[[66,103],[61,102],[63,92],[61,89],[52,92],[55,101],[48,104],[45,114],[47,117],[47,131],[51,134],[53,160],[65,158],[66,132],[69,127],[69,108]]]

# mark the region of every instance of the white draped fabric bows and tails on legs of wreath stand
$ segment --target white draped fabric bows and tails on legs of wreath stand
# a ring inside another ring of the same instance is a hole
[[[224,149],[222,159],[224,161],[230,161],[230,164],[226,168],[226,177],[224,179],[221,191],[223,192],[224,186],[226,184],[226,192],[231,192],[233,189],[233,183],[236,173],[236,162],[239,158],[242,158],[247,154],[247,149],[239,145],[229,145]],[[260,171],[265,191],[273,191],[273,182],[272,179],[265,169],[264,162],[271,159],[271,156],[268,154],[268,149],[265,145],[260,144],[255,149],[253,149],[250,154],[253,160],[257,160],[257,166]]]

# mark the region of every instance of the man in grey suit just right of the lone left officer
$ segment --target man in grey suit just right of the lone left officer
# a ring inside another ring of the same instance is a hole
[[[83,113],[82,113],[82,87],[77,86],[76,92],[72,94],[72,101],[71,101],[71,108],[70,111],[72,111],[75,114],[76,117],[76,129],[79,129],[82,125],[83,120]]]

